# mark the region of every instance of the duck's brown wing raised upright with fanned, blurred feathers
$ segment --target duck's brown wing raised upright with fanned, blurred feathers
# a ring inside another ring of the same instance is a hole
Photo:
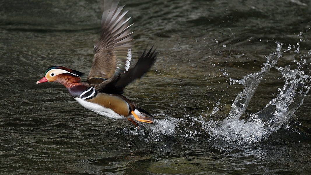
[[[132,33],[127,11],[118,2],[104,1],[100,39],[94,45],[94,59],[88,79],[108,79],[128,70],[132,59]]]

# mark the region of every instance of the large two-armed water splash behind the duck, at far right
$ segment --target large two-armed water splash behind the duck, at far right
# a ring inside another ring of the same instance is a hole
[[[310,76],[300,70],[304,64],[303,59],[300,59],[300,64],[297,64],[297,69],[294,70],[289,66],[275,67],[277,60],[282,56],[281,47],[282,44],[277,43],[276,52],[267,56],[267,62],[260,72],[248,74],[239,81],[244,85],[244,89],[235,98],[229,115],[225,120],[216,122],[217,127],[209,128],[213,139],[222,138],[228,143],[258,142],[280,129],[303,104],[310,88],[305,82],[309,81]],[[240,120],[258,84],[272,67],[279,70],[285,78],[285,85],[279,95],[261,111],[251,114],[247,120]]]

